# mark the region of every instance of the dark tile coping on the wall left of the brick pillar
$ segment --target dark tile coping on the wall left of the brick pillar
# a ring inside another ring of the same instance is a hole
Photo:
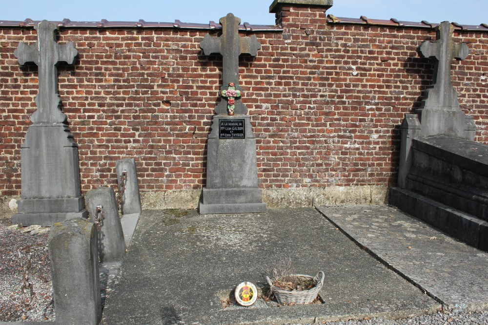
[[[16,20],[0,20],[1,27],[34,27],[40,20],[25,19],[23,21]],[[139,21],[108,21],[102,19],[101,21],[71,21],[63,19],[62,21],[51,21],[63,28],[176,28],[176,29],[201,29],[201,30],[220,30],[222,25],[215,21],[210,21],[208,24],[197,24],[182,22],[175,20],[175,22],[148,22],[140,19]],[[247,22],[239,25],[240,31],[246,32],[283,32],[283,28],[272,25],[251,25]]]

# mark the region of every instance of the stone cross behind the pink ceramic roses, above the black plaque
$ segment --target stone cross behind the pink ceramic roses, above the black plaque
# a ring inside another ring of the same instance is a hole
[[[239,56],[241,54],[250,54],[256,56],[258,50],[261,48],[256,36],[249,38],[242,38],[239,36],[239,24],[241,19],[234,17],[232,14],[220,19],[222,25],[222,36],[219,38],[205,35],[200,47],[203,49],[205,55],[222,54],[223,56],[223,85],[222,90],[227,89],[227,85],[234,83],[236,89],[241,90],[239,87]],[[221,101],[215,112],[217,114],[225,114],[227,111],[227,105],[224,101]],[[236,98],[235,103],[236,114],[245,114],[247,109],[240,99]]]

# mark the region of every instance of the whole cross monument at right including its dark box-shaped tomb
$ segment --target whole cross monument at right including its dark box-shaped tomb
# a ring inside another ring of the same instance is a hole
[[[488,146],[474,142],[476,126],[459,107],[452,59],[468,46],[452,41],[454,27],[436,27],[420,52],[435,58],[434,83],[416,114],[402,123],[398,187],[390,203],[479,249],[488,250]]]

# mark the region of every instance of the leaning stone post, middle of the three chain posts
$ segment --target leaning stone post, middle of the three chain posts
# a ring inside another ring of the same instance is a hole
[[[110,187],[99,187],[88,191],[86,206],[91,222],[95,222],[97,207],[102,206],[103,219],[98,231],[100,262],[122,261],[126,244],[114,190]]]

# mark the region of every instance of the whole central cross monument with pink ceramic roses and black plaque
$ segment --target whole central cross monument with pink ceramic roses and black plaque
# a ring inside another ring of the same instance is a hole
[[[251,130],[245,96],[239,86],[239,56],[257,55],[261,48],[255,36],[241,38],[241,19],[228,14],[220,19],[223,32],[219,38],[205,35],[200,47],[205,55],[223,56],[223,86],[221,102],[212,118],[208,135],[207,179],[203,188],[200,213],[264,212],[261,189],[258,186],[256,138]]]

